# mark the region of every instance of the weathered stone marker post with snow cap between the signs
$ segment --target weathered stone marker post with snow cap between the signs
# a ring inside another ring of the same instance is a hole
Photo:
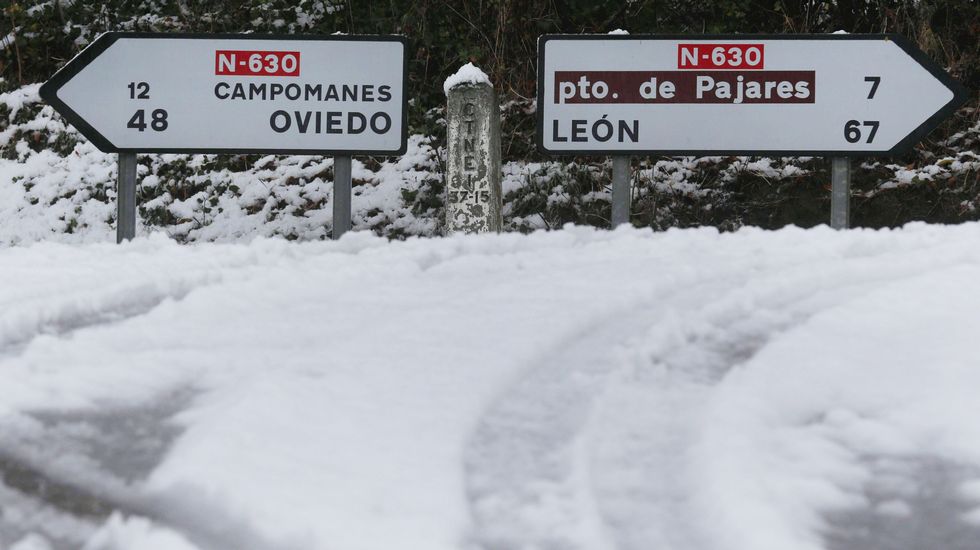
[[[487,75],[467,63],[443,87],[448,98],[446,233],[500,231],[500,106]]]

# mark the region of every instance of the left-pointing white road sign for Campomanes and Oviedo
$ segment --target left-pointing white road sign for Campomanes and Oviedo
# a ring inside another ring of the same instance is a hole
[[[41,88],[103,151],[404,152],[400,37],[106,33]]]

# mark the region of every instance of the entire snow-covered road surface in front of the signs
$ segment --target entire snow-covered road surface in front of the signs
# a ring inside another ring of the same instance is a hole
[[[0,250],[0,548],[975,550],[978,243]]]

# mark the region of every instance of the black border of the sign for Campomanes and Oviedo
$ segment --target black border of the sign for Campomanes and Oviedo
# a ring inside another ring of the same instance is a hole
[[[153,39],[206,39],[206,40],[274,40],[274,41],[357,41],[357,42],[400,42],[402,44],[402,135],[397,150],[365,149],[236,149],[236,148],[145,148],[117,147],[101,132],[93,128],[81,115],[58,98],[58,90],[69,80],[92,63],[121,38]],[[396,35],[279,35],[279,34],[236,34],[236,33],[167,33],[167,32],[106,32],[58,70],[47,82],[41,85],[41,98],[69,124],[78,129],[98,149],[105,153],[176,153],[176,154],[268,154],[268,155],[373,155],[400,156],[408,150],[408,38]]]

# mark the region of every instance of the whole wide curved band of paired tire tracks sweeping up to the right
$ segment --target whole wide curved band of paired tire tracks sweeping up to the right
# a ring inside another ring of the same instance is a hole
[[[666,307],[645,302],[568,338],[500,396],[471,437],[471,542],[485,550],[718,548],[690,501],[688,464],[714,386],[812,315],[942,269],[903,253],[819,270],[790,264],[754,279],[736,267],[715,274],[717,288],[684,285],[664,293]],[[869,262],[875,269],[855,276],[854,264]]]

